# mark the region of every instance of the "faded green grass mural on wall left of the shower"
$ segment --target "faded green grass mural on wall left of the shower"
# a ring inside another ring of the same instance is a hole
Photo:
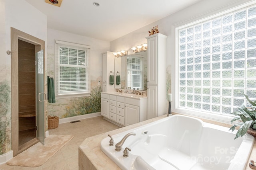
[[[7,114],[10,107],[10,86],[7,82],[0,82],[0,155],[6,153],[9,139],[7,134],[7,127],[10,124]]]

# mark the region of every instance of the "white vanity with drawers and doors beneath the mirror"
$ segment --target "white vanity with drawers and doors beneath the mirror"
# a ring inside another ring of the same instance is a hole
[[[101,115],[119,126],[128,126],[147,119],[147,96],[101,92]]]

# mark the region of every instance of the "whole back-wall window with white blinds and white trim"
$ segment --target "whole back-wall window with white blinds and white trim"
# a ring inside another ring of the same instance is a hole
[[[56,54],[57,96],[90,95],[90,47],[57,40]]]

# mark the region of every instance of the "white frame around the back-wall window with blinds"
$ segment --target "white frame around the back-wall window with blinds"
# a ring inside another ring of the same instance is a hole
[[[87,88],[88,91],[86,92],[80,92],[80,93],[64,93],[64,94],[58,94],[58,84],[59,84],[59,77],[60,77],[60,72],[59,72],[59,68],[60,68],[60,53],[59,53],[59,45],[63,45],[63,47],[68,47],[68,48],[74,48],[74,49],[80,49],[80,50],[87,50],[89,56],[87,56],[88,58],[86,58],[87,61]],[[54,43],[54,49],[55,49],[55,64],[54,64],[54,75],[55,75],[55,97],[56,99],[61,99],[61,98],[74,98],[74,97],[88,97],[91,94],[91,88],[90,88],[90,54],[91,54],[91,47],[88,45],[82,45],[82,44],[77,44],[77,43],[70,43],[70,42],[66,42],[66,41],[60,41],[60,40],[55,40]]]

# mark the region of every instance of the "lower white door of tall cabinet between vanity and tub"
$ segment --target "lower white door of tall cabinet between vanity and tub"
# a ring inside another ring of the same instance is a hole
[[[157,117],[157,86],[148,86],[148,115],[147,119]]]

